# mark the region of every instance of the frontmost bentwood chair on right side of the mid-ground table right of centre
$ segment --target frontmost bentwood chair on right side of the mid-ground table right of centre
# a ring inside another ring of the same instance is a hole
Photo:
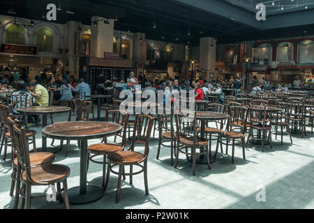
[[[247,120],[248,120],[248,109],[246,107],[241,106],[232,106],[229,108],[229,118],[227,121],[226,131],[221,129],[221,132],[218,135],[218,142],[216,146],[216,152],[214,158],[216,159],[218,153],[218,147],[222,150],[222,145],[226,145],[226,154],[228,153],[229,141],[232,141],[232,158],[231,162],[234,164],[234,147],[236,146],[235,142],[240,141],[239,144],[242,145],[242,153],[244,160],[246,159],[244,142],[246,137],[246,128],[247,128]],[[237,124],[235,124],[237,123]],[[234,128],[236,127],[236,128]],[[237,130],[237,131],[236,131]],[[225,139],[225,143],[223,142]]]

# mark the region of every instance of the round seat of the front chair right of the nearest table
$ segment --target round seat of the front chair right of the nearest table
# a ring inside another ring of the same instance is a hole
[[[136,164],[142,162],[144,155],[133,151],[119,151],[108,155],[108,160],[113,164]]]

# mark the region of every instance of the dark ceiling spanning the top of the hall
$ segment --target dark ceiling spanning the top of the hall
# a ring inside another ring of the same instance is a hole
[[[43,21],[42,14],[46,12],[48,3],[61,4],[61,10],[57,11],[57,23],[60,24],[69,20],[91,24],[93,15],[118,17],[114,29],[143,32],[147,39],[171,43],[187,43],[190,40],[191,45],[199,45],[200,38],[207,36],[217,37],[218,44],[222,44],[314,35],[314,24],[265,31],[174,0],[0,0],[0,14]],[[15,10],[16,15],[8,13],[10,9]],[[254,13],[252,15],[254,20]],[[153,28],[155,21],[156,29]],[[176,41],[177,37],[179,40]]]

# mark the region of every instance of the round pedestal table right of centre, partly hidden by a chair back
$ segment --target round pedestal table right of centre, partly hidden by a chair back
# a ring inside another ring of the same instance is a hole
[[[206,121],[224,121],[227,118],[229,118],[227,114],[218,113],[218,112],[196,112],[196,119],[201,121],[201,132],[200,132],[201,139],[205,139]],[[197,156],[196,162],[198,164],[207,164],[204,154]]]

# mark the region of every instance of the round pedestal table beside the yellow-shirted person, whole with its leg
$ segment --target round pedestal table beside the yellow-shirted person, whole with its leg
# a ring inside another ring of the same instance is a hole
[[[61,107],[61,106],[31,106],[31,107],[21,107],[17,109],[17,112],[24,114],[24,116],[27,116],[27,114],[42,115],[43,116],[43,128],[44,128],[47,125],[48,114],[59,114],[59,113],[70,112],[69,115],[71,115],[71,108]],[[47,151],[47,139],[44,136],[42,136],[42,151]]]

